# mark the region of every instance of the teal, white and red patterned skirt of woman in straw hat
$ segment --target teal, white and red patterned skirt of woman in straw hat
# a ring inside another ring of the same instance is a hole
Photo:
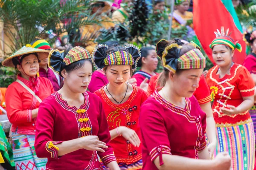
[[[12,150],[16,170],[45,170],[47,158],[35,154],[35,135],[12,132]]]

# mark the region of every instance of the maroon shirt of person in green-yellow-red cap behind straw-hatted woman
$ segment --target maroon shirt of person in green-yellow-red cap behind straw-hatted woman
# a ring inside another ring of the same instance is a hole
[[[61,89],[56,75],[50,68],[48,68],[48,71],[46,71],[44,68],[39,68],[39,75],[40,77],[49,79],[55,91],[58,91]],[[59,79],[61,79],[60,76],[58,77]]]

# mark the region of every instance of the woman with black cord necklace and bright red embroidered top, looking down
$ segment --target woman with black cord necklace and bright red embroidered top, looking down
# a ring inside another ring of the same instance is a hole
[[[142,169],[138,122],[140,106],[147,94],[127,82],[139,59],[140,51],[133,45],[110,48],[99,45],[93,52],[94,66],[103,68],[109,82],[95,94],[102,99],[111,134],[110,145],[122,170]]]

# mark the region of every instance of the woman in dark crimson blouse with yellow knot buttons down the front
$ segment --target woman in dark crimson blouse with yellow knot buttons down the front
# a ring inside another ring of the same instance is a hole
[[[49,67],[64,85],[45,99],[38,111],[35,150],[47,157],[47,170],[103,170],[98,156],[111,170],[119,170],[102,102],[87,92],[93,65],[81,47],[64,53],[52,50]]]

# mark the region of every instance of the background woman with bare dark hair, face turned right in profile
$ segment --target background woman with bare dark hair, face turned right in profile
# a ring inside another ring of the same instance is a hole
[[[133,78],[137,80],[137,86],[147,79],[146,83],[149,83],[150,78],[157,73],[154,72],[157,69],[158,59],[154,48],[143,47],[141,48],[141,59],[138,61],[137,66],[141,67],[140,71],[134,73]]]

